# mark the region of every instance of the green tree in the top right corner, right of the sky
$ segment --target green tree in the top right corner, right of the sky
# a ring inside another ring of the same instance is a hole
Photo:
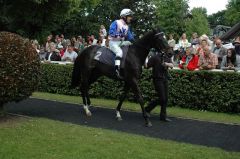
[[[229,0],[225,14],[227,23],[231,26],[240,21],[240,1]]]

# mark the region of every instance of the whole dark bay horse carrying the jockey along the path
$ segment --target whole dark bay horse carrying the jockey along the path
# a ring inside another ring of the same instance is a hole
[[[91,112],[89,111],[89,106],[91,105],[88,94],[89,86],[100,76],[117,79],[114,66],[106,65],[94,59],[99,48],[100,46],[90,46],[83,50],[75,60],[72,72],[72,87],[79,86],[80,84],[84,110],[88,116],[91,116]],[[118,120],[122,119],[120,115],[121,106],[131,89],[140,103],[146,126],[150,127],[152,125],[146,115],[142,93],[138,86],[142,66],[151,48],[165,53],[172,53],[172,49],[169,47],[161,30],[150,31],[129,46],[125,59],[125,67],[121,70],[124,81],[124,93],[121,95],[116,108],[116,117]]]

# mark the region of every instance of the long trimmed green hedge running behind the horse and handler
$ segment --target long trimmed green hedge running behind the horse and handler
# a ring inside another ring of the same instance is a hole
[[[69,89],[72,65],[41,65],[39,91],[66,95],[80,95],[77,89]],[[240,112],[240,74],[234,72],[188,72],[171,70],[169,105],[214,112]],[[144,99],[151,99],[155,92],[150,80],[151,71],[144,70],[140,87]],[[118,99],[119,86],[123,83],[100,78],[91,86],[92,97]],[[130,100],[134,99],[130,93]]]

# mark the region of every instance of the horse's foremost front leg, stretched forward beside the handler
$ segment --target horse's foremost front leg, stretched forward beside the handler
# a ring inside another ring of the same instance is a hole
[[[141,106],[143,118],[145,120],[145,124],[146,124],[147,127],[151,127],[152,123],[150,122],[149,117],[147,116],[147,113],[144,109],[144,100],[143,100],[143,97],[142,97],[142,92],[141,92],[141,90],[140,90],[140,88],[137,84],[137,80],[132,81],[131,87],[132,87],[133,93],[135,94],[135,96],[137,98],[137,101],[139,102],[139,104]]]

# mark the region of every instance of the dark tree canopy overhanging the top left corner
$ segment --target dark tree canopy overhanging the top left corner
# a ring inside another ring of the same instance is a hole
[[[41,39],[57,30],[74,11],[78,0],[0,0],[4,30]]]

